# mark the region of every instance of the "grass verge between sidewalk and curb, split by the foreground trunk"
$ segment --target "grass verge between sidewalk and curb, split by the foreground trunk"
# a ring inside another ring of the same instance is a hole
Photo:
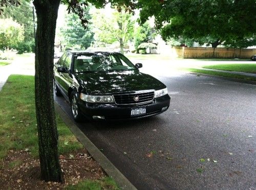
[[[29,149],[33,157],[38,157],[34,101],[34,76],[9,76],[0,92],[0,159],[7,155],[8,150],[25,149]],[[56,122],[59,154],[82,148],[58,115]]]

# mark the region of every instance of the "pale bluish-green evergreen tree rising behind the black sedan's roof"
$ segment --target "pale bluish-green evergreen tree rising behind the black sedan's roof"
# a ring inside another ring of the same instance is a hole
[[[90,20],[89,9],[86,10],[87,19]],[[92,32],[92,25],[89,24],[86,29],[83,28],[79,17],[70,13],[66,18],[66,25],[61,29],[61,34],[64,38],[64,43],[68,47],[74,45],[80,46],[80,48],[86,49],[90,47],[94,36]],[[72,48],[71,48],[72,49]]]

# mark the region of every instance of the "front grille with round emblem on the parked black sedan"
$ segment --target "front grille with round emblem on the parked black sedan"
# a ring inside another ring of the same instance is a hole
[[[113,95],[118,105],[143,104],[154,100],[155,91],[137,92],[131,94],[115,94]],[[136,101],[135,97],[139,97]]]

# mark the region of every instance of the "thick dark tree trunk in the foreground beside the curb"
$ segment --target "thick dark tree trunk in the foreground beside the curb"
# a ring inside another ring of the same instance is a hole
[[[37,15],[35,39],[35,106],[41,178],[62,182],[58,159],[58,132],[53,99],[53,56],[60,0],[34,0]]]

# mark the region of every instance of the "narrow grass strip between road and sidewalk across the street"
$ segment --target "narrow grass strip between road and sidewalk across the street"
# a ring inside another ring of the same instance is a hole
[[[209,74],[209,75],[225,76],[225,77],[229,77],[229,78],[237,78],[237,79],[243,79],[243,80],[256,81],[255,77],[244,76],[244,75],[240,75],[240,74],[231,74],[231,73],[224,73],[224,72],[218,72],[218,71],[208,71],[208,70],[193,69],[193,68],[188,68],[188,69],[185,69],[185,70],[189,71],[189,72],[196,72],[196,73],[203,73],[203,74]]]

